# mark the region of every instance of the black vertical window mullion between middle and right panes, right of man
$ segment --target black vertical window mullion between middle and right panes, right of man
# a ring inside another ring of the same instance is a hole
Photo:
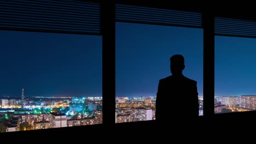
[[[214,116],[214,15],[202,14],[203,24],[203,117]]]

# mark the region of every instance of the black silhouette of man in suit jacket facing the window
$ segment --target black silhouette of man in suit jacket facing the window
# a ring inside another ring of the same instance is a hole
[[[173,55],[171,76],[159,80],[156,94],[156,122],[168,124],[173,121],[193,121],[199,116],[199,103],[196,81],[185,77],[184,57]]]

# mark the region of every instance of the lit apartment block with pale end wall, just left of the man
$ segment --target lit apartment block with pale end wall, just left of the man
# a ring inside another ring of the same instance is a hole
[[[131,122],[149,121],[153,119],[152,109],[131,108]]]

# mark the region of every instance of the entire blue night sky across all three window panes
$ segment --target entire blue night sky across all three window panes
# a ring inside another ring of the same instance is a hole
[[[0,97],[101,97],[102,37],[1,31]],[[170,57],[203,94],[203,29],[116,23],[116,96],[155,96]],[[216,36],[215,95],[256,94],[256,40]]]

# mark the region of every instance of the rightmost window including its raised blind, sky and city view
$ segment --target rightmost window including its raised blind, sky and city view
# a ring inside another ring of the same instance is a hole
[[[214,28],[214,112],[255,110],[255,21],[215,17]]]

